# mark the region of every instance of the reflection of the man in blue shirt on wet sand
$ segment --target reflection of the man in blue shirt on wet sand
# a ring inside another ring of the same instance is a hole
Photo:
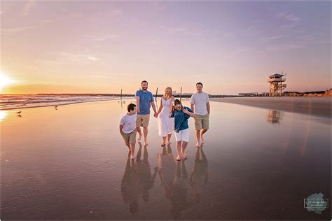
[[[143,160],[141,160],[141,152],[143,150]],[[146,145],[144,147],[139,143],[139,150],[137,152],[137,192],[141,194],[144,202],[148,201],[149,194],[148,190],[153,187],[155,182],[155,176],[157,175],[157,171],[151,175],[151,167],[148,163],[148,150]]]

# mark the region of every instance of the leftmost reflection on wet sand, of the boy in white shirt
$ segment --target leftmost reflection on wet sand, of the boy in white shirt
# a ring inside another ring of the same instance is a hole
[[[123,201],[129,204],[130,213],[137,213],[139,211],[137,203],[137,171],[134,160],[130,160],[130,153],[128,153],[125,173],[121,181],[121,194]]]

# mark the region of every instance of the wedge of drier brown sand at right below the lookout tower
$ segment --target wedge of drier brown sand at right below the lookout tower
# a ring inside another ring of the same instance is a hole
[[[331,117],[331,97],[225,97],[211,101]]]

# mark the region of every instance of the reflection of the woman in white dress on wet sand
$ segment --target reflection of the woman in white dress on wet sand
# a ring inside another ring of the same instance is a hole
[[[162,187],[165,189],[166,199],[171,199],[174,184],[174,171],[176,169],[172,148],[169,145],[162,147],[162,153],[158,153],[158,171]]]

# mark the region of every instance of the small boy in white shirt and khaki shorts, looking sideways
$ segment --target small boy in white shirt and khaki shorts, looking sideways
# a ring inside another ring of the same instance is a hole
[[[136,143],[136,105],[129,104],[127,106],[128,113],[123,115],[120,120],[120,134],[123,136],[123,140],[125,141],[125,145],[127,145],[128,150],[130,151],[130,159],[135,159],[134,150]]]

